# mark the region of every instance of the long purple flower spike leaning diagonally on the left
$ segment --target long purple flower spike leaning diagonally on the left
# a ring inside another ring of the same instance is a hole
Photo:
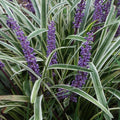
[[[24,32],[20,29],[20,26],[16,23],[16,21],[11,17],[8,17],[7,25],[15,31],[17,38],[20,40],[23,53],[28,63],[28,67],[31,68],[37,75],[40,75],[39,66],[36,62],[35,54],[33,53],[33,48],[30,47],[30,42],[27,41],[27,37],[24,35]],[[35,81],[36,77],[31,73],[30,76],[32,81]]]

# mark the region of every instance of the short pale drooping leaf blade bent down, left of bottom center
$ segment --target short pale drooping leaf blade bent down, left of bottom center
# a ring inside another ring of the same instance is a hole
[[[31,93],[31,103],[35,103],[42,79],[36,80]]]

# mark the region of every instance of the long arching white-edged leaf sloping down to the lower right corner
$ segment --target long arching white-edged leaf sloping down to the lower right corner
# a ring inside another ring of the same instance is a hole
[[[99,107],[110,118],[113,118],[113,115],[109,112],[109,110],[107,110],[99,101],[97,101],[95,98],[93,98],[92,96],[90,96],[89,94],[87,94],[86,92],[84,92],[83,90],[81,90],[79,88],[75,88],[75,87],[72,87],[69,85],[55,85],[52,88],[63,88],[63,89],[69,90],[73,93],[76,93],[76,94],[82,96],[83,98],[87,99],[88,101],[90,101],[91,103],[96,105],[97,107]]]

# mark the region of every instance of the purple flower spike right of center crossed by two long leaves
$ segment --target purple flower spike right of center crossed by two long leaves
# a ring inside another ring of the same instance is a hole
[[[90,43],[93,41],[93,33],[87,33],[88,37],[85,39],[87,40],[83,46],[81,47],[80,57],[78,61],[78,66],[89,68],[88,63],[90,62],[90,50],[91,46]],[[72,81],[71,86],[81,89],[81,87],[85,84],[87,80],[88,73],[87,72],[78,72],[78,74],[75,76],[75,80]],[[73,102],[77,102],[77,94],[75,93],[69,93],[68,90],[65,89],[58,89],[57,93],[58,99],[65,99],[67,97],[70,97],[70,100]]]

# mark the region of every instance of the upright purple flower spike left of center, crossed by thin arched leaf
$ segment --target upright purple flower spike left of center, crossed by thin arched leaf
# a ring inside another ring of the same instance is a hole
[[[54,21],[50,22],[48,25],[48,35],[47,35],[47,56],[56,48],[56,37],[55,37],[55,23]],[[53,55],[53,58],[50,62],[50,65],[57,64],[57,54]]]

